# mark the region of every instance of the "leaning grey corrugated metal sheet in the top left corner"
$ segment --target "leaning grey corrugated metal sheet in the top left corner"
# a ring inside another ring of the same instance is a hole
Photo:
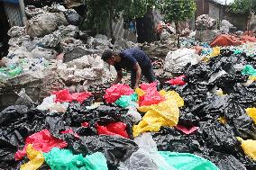
[[[4,5],[10,27],[23,26],[23,18],[19,5],[10,3],[5,3]]]

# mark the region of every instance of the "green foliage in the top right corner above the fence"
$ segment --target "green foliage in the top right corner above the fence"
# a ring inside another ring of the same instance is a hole
[[[234,0],[229,11],[249,15],[251,11],[256,12],[256,0]]]

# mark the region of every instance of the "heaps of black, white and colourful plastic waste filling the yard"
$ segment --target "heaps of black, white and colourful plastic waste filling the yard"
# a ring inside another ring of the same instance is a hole
[[[164,22],[160,40],[113,41],[67,6],[25,9],[0,62],[0,169],[256,170],[253,30],[204,14],[179,45]],[[133,89],[123,70],[112,85],[101,55],[130,48],[149,56],[156,82]]]

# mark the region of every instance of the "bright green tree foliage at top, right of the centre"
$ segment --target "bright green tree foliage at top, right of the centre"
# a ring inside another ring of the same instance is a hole
[[[158,5],[166,22],[182,22],[191,18],[196,11],[194,0],[162,0]]]

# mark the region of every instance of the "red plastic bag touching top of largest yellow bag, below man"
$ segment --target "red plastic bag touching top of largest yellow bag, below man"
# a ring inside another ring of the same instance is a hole
[[[145,92],[145,94],[139,98],[140,106],[158,104],[166,100],[158,92],[157,83],[142,84],[141,89]]]

